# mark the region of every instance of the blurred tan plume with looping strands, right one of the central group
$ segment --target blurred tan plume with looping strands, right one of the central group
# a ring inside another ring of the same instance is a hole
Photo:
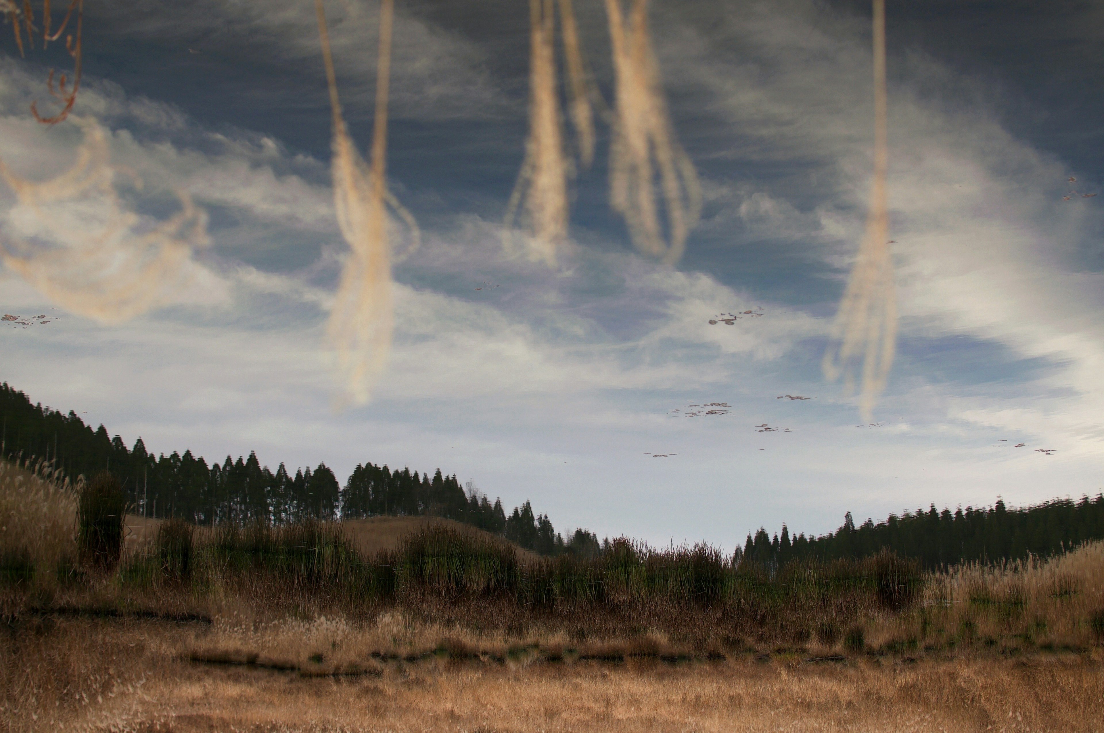
[[[678,262],[701,214],[701,188],[667,113],[659,66],[651,50],[647,0],[633,0],[626,18],[622,0],[606,0],[616,76],[616,123],[609,152],[609,201],[625,217],[638,249]],[[660,222],[656,174],[666,206]]]

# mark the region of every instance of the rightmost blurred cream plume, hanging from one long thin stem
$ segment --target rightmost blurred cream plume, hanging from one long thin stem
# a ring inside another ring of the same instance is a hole
[[[885,389],[896,348],[896,295],[890,251],[885,174],[889,166],[885,102],[885,1],[874,2],[874,180],[867,231],[832,327],[834,342],[825,352],[825,376],[841,373],[845,389],[854,389],[856,362],[862,358],[859,410],[870,419]]]

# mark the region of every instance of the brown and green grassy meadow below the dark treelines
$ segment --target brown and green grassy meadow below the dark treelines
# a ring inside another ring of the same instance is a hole
[[[9,730],[1104,720],[1100,542],[937,573],[890,553],[772,567],[629,540],[545,559],[429,519],[127,522],[112,496],[0,465]]]

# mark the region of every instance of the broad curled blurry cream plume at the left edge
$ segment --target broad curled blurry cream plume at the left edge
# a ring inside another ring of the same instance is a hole
[[[103,322],[127,320],[168,302],[195,274],[192,254],[208,244],[206,216],[179,193],[181,211],[150,225],[127,209],[115,180],[104,129],[72,117],[84,131],[76,162],[35,183],[0,161],[15,192],[0,258],[9,269],[66,310]]]

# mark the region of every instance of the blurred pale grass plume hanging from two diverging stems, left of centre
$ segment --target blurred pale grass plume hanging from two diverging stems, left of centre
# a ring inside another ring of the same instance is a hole
[[[394,0],[383,0],[380,7],[380,55],[371,168],[357,152],[341,115],[322,0],[315,0],[315,9],[333,115],[333,203],[338,226],[350,248],[327,332],[337,360],[341,390],[338,404],[350,400],[363,404],[368,401],[372,385],[383,373],[391,352],[394,318],[391,294],[392,253],[385,203],[399,210],[411,227],[412,248],[417,246],[418,241],[413,217],[399,206],[386,190],[388,86]]]

